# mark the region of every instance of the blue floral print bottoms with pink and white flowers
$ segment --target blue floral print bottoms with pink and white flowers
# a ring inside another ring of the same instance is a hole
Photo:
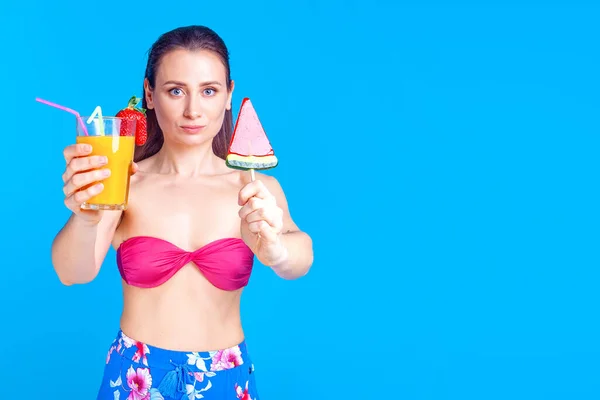
[[[246,343],[218,351],[149,346],[119,331],[97,400],[259,400]]]

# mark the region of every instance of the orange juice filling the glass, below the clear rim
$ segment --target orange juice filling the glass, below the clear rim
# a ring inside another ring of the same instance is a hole
[[[92,146],[90,155],[108,157],[110,176],[102,181],[104,189],[83,203],[82,208],[91,210],[124,210],[129,195],[129,176],[135,149],[134,136],[77,136],[77,143]],[[89,185],[92,186],[95,183]],[[82,189],[86,189],[86,186]]]

